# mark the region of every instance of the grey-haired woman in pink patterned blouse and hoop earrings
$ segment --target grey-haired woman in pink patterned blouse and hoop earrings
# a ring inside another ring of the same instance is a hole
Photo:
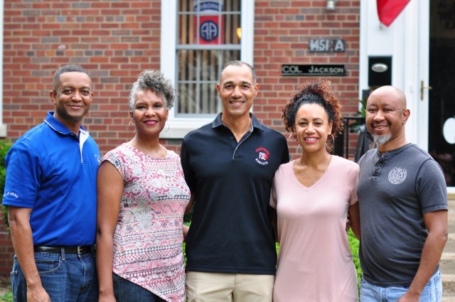
[[[109,151],[97,176],[99,301],[185,301],[180,158],[159,144],[174,88],[144,70],[129,95],[134,138]]]

